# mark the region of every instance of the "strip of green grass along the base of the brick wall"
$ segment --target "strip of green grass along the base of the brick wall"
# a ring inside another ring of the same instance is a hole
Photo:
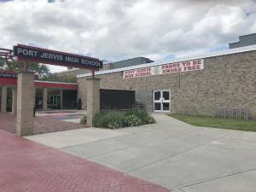
[[[195,126],[213,127],[229,130],[256,131],[256,120],[219,119],[185,114],[169,114],[170,117]]]

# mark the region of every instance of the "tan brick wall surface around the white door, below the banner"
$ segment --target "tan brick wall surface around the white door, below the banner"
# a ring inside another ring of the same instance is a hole
[[[183,113],[212,116],[217,108],[232,106],[249,108],[256,119],[256,51],[206,58],[204,65],[202,71],[135,79],[123,79],[122,72],[96,77],[102,79],[103,89],[137,90],[140,101],[143,91],[146,101],[148,90],[171,90],[172,113],[182,109]],[[79,95],[84,95],[85,81],[78,79]]]

